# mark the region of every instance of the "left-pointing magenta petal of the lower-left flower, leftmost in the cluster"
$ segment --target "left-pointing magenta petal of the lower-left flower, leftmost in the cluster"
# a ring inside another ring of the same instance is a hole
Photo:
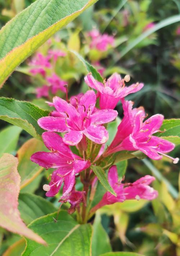
[[[60,167],[59,154],[51,152],[37,152],[31,156],[31,161],[48,168]]]

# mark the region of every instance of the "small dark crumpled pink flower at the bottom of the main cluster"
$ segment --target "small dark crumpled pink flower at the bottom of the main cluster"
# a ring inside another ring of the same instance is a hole
[[[80,203],[85,203],[85,191],[77,191],[73,189],[70,194],[65,198],[61,198],[59,202],[69,202],[71,207],[68,209],[69,214],[73,214],[76,208],[80,210]]]

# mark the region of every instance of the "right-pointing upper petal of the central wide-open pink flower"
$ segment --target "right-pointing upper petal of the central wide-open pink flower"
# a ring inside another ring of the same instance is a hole
[[[91,115],[91,123],[94,125],[101,125],[102,123],[109,123],[113,121],[118,115],[116,110],[102,109],[96,111]]]

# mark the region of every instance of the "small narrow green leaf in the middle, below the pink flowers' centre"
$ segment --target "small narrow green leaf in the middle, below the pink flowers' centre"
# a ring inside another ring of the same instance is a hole
[[[111,194],[113,194],[114,196],[116,196],[116,193],[114,192],[114,190],[112,189],[112,187],[109,185],[108,179],[105,175],[105,172],[103,170],[102,167],[100,166],[91,166],[91,169],[94,171],[95,175],[97,176],[98,180],[100,181],[100,183],[103,185],[103,187],[109,191]]]

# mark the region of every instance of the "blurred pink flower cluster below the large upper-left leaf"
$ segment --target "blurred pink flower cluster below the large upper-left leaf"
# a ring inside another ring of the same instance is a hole
[[[45,84],[41,87],[36,88],[37,98],[49,97],[49,93],[55,95],[58,90],[66,93],[66,88],[64,85],[67,84],[66,81],[63,81],[54,71],[53,66],[50,63],[50,60],[53,60],[54,63],[57,62],[58,57],[65,57],[66,53],[60,50],[49,50],[48,55],[44,56],[41,53],[37,53],[36,56],[31,60],[29,66],[30,73],[35,76],[37,74],[41,75],[45,79]],[[51,73],[50,76],[47,75]]]

